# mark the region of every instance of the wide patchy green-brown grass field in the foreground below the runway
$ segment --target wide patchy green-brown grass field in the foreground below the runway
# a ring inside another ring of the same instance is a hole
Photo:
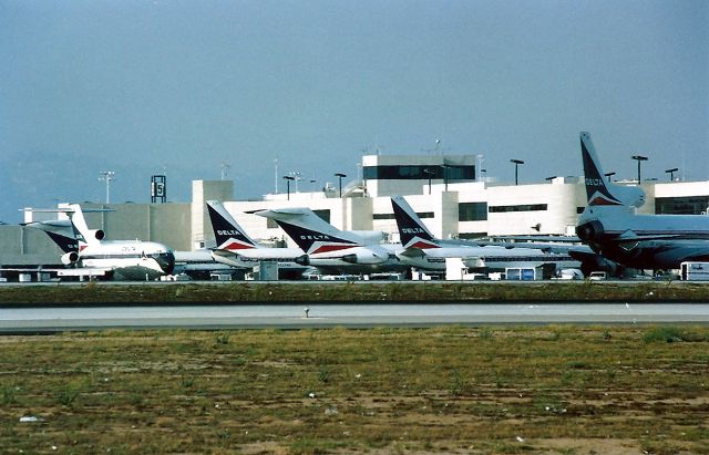
[[[0,352],[3,454],[709,453],[707,327],[105,331]]]

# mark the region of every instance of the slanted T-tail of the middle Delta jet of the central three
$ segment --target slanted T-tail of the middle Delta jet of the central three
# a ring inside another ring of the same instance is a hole
[[[361,238],[343,232],[309,208],[259,210],[255,215],[270,218],[308,255],[362,246]]]

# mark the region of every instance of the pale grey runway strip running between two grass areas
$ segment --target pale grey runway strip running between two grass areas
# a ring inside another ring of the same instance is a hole
[[[306,308],[307,317],[306,317]],[[705,303],[265,304],[0,309],[0,332],[104,329],[709,323]]]

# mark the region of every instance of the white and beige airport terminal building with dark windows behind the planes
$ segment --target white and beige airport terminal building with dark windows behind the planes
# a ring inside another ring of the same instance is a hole
[[[82,207],[113,210],[85,214],[89,226],[103,229],[106,239],[160,241],[175,250],[214,246],[205,205],[209,199],[224,201],[253,238],[291,247],[296,245],[275,223],[248,211],[309,207],[340,229],[381,230],[388,241],[395,242],[399,235],[390,196],[402,195],[440,238],[574,234],[577,216],[586,205],[583,178],[501,184],[481,177],[475,159],[475,155],[367,155],[361,178],[319,192],[269,194],[261,200],[246,201],[238,200],[238,194],[235,197],[232,180],[194,180],[192,200],[186,203],[85,203]],[[648,180],[641,187],[646,204],[639,213],[708,213],[709,180]],[[39,216],[48,214],[27,211],[25,221]],[[44,232],[0,226],[0,266],[56,265],[60,256],[61,250]]]

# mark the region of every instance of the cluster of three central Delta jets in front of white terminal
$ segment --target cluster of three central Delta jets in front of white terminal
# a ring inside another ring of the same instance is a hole
[[[401,244],[381,244],[383,235],[378,231],[339,230],[306,207],[257,210],[254,214],[276,221],[298,245],[298,249],[276,249],[279,261],[289,259],[291,265],[308,265],[325,273],[372,273],[411,268],[444,273],[446,258],[461,258],[471,268],[497,270],[507,267],[549,266],[556,269],[579,266],[568,254],[538,248],[460,241],[446,244],[431,235],[403,197],[392,197],[391,204]],[[217,248],[213,252],[215,260],[240,267],[274,257],[274,249],[258,248],[222,203],[209,200],[207,207],[217,239]],[[292,267],[287,263],[284,265]]]

